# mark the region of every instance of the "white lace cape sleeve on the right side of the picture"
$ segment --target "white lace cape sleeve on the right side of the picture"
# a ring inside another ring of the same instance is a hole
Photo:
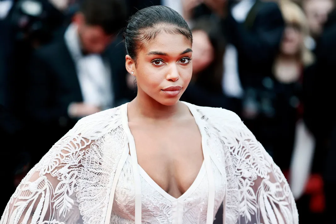
[[[294,197],[280,168],[234,114],[222,135],[228,179],[224,223],[298,224]]]

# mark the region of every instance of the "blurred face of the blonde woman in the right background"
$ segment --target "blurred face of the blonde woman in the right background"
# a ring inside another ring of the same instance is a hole
[[[285,55],[296,55],[303,44],[303,36],[300,28],[295,25],[287,25],[281,43],[281,52]]]

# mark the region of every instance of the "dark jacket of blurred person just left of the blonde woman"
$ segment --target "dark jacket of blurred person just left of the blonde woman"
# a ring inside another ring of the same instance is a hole
[[[257,0],[243,24],[237,23],[228,10],[223,31],[229,43],[238,50],[239,75],[243,87],[260,86],[272,74],[274,58],[279,51],[285,28],[277,3]]]

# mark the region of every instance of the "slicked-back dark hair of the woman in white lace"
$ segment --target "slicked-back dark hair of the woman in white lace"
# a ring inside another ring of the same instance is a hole
[[[167,6],[150,6],[137,11],[128,21],[124,33],[127,54],[135,60],[144,42],[154,39],[162,31],[182,34],[193,42],[192,32],[178,12]]]

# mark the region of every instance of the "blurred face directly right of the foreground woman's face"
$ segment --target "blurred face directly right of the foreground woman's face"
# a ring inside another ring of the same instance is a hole
[[[202,30],[193,31],[193,72],[206,69],[214,59],[214,49],[208,35]]]

